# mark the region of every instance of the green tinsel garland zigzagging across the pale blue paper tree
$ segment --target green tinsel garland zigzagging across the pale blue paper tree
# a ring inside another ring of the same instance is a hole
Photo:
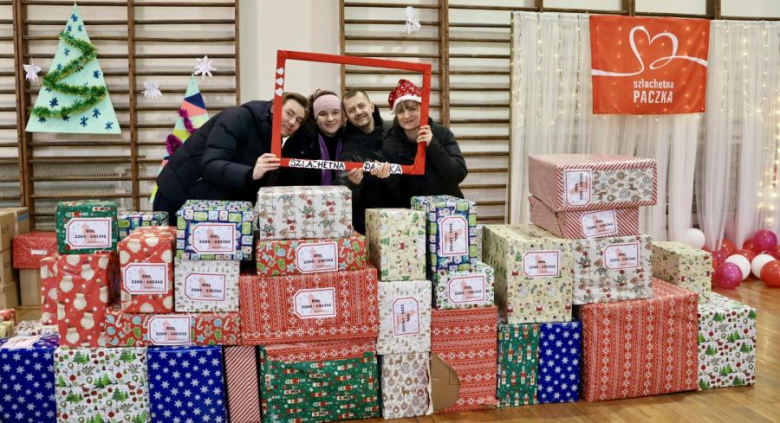
[[[78,59],[63,66],[62,69],[56,69],[47,73],[46,76],[43,77],[43,86],[53,91],[81,97],[81,99],[74,101],[73,104],[68,107],[58,110],[52,110],[43,106],[33,107],[31,113],[36,116],[62,118],[76,115],[100,103],[106,95],[108,95],[108,89],[106,87],[85,87],[60,82],[69,75],[84,69],[84,66],[86,66],[87,63],[97,57],[97,50],[92,43],[76,39],[65,31],[60,33],[60,40],[71,47],[79,49],[82,52],[82,55]]]

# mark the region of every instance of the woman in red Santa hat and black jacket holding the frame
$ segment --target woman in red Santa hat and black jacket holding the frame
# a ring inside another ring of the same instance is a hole
[[[417,155],[417,145],[426,145],[423,175],[390,175],[387,164],[372,170],[373,175],[384,180],[389,191],[387,207],[410,207],[411,198],[418,195],[463,198],[459,185],[468,175],[466,161],[449,128],[435,124],[430,118],[426,125],[421,125],[420,89],[401,79],[387,100],[395,120],[382,146],[384,159],[388,163],[411,165]]]

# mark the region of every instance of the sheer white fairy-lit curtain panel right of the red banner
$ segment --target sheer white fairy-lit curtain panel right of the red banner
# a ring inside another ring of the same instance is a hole
[[[709,247],[778,226],[780,23],[713,21],[697,210]]]

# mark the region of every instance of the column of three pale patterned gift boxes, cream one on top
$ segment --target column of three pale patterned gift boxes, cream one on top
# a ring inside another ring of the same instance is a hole
[[[369,209],[366,233],[379,271],[382,416],[430,414],[431,282],[425,278],[425,219],[408,209]]]

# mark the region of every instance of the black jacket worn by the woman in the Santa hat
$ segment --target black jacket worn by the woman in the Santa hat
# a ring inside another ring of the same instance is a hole
[[[425,150],[424,175],[390,175],[384,179],[388,190],[388,207],[409,208],[411,198],[418,195],[452,195],[463,198],[460,183],[466,179],[466,160],[460,152],[455,135],[449,128],[433,123],[433,139]],[[387,132],[384,142],[385,160],[401,165],[414,164],[417,143],[406,138],[398,123]]]

